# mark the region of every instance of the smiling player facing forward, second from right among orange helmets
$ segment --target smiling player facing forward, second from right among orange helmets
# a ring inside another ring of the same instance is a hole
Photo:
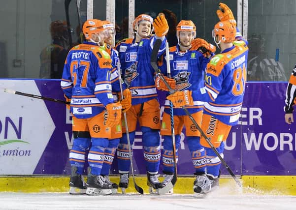
[[[196,26],[191,20],[181,20],[176,28],[178,44],[169,48],[168,56],[164,54],[161,57],[162,59],[159,62],[159,68],[164,74],[166,82],[175,91],[199,91],[199,89],[202,88],[204,84],[206,64],[209,62],[209,58],[215,52],[216,47],[208,44],[203,39],[195,39]],[[203,46],[207,47],[204,55],[198,50],[199,47],[202,48],[201,42],[203,43]],[[165,76],[167,75],[166,59],[168,58],[172,79],[169,79]],[[156,78],[155,84],[158,90],[168,91],[168,88],[165,86],[164,82],[159,76]],[[199,126],[201,126],[203,102],[194,101],[194,104],[192,106],[186,106],[186,108],[192,114],[193,118],[197,121]],[[195,168],[196,180],[194,184],[196,184],[195,186],[198,186],[200,185],[200,183],[203,182],[204,179],[206,179],[205,152],[203,146],[201,146],[199,143],[200,133],[190,120],[189,116],[186,115],[181,107],[173,108],[173,116],[175,128],[176,157],[178,158],[178,148],[180,146],[181,131],[183,126],[185,126],[186,140],[191,152],[193,166]],[[165,101],[161,135],[164,138],[162,164],[165,177],[162,183],[167,185],[173,179],[174,175],[169,100]],[[169,190],[169,193],[172,193],[172,189]]]

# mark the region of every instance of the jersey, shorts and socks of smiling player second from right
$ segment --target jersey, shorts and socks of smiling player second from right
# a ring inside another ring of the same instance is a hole
[[[169,59],[171,78],[176,81],[174,90],[199,91],[204,85],[205,68],[210,59],[204,58],[201,52],[189,49],[182,52],[179,45],[169,48],[169,55],[164,54],[159,61],[159,68],[164,75],[167,75],[166,59]],[[169,93],[167,92],[166,95]],[[193,106],[186,106],[192,117],[201,126],[203,102],[195,100]],[[163,150],[163,172],[164,174],[173,174],[173,148],[170,124],[169,100],[165,100],[164,116],[162,120],[161,135],[164,138]],[[174,128],[175,128],[175,148],[178,157],[178,148],[180,146],[181,131],[186,127],[186,141],[191,152],[195,173],[205,172],[204,148],[199,144],[200,133],[192,124],[190,118],[181,107],[173,107]]]

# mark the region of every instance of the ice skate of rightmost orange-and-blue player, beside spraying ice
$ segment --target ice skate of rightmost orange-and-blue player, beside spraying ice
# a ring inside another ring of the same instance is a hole
[[[199,180],[195,181],[196,184],[202,183],[198,186],[194,187],[195,196],[202,197],[204,194],[213,191],[215,189],[219,188],[219,178],[214,178],[211,175],[204,175],[202,178],[199,178]]]

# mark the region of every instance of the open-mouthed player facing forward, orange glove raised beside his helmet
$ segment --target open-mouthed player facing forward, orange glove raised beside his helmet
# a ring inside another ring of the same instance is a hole
[[[150,56],[156,39],[161,39],[159,55],[165,49],[165,34],[168,24],[164,16],[158,16],[154,22],[146,14],[137,16],[133,22],[134,38],[124,39],[117,45],[124,81],[132,92],[132,108],[127,111],[131,145],[135,137],[137,121],[142,131],[142,145],[147,171],[147,184],[150,190],[162,188],[158,180],[160,165],[160,107],[154,82],[154,70],[150,65]],[[155,35],[151,36],[152,31]],[[117,157],[120,173],[119,187],[125,190],[129,184],[130,158],[127,135],[123,126],[123,138],[120,140]]]

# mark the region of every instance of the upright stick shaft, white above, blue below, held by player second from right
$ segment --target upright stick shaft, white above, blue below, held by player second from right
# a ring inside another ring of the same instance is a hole
[[[166,71],[167,76],[171,78],[170,76],[170,63],[169,63],[169,47],[168,42],[165,41],[165,54],[166,54]],[[173,112],[173,104],[171,101],[169,101],[169,116],[170,116],[170,126],[171,126],[171,136],[172,136],[172,149],[173,149],[173,159],[174,159],[174,179],[173,179],[173,185],[177,181],[177,155],[176,155],[176,140],[175,140],[175,128],[174,128],[174,112]]]

